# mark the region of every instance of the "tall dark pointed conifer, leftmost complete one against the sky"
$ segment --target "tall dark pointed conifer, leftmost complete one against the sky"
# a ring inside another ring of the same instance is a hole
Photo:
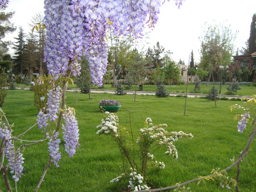
[[[14,44],[13,49],[14,52],[14,62],[15,62],[15,70],[17,73],[20,73],[20,82],[22,83],[22,77],[23,77],[23,61],[24,61],[24,44],[25,44],[25,34],[22,27],[19,27],[19,34],[18,37],[15,37],[17,41]]]

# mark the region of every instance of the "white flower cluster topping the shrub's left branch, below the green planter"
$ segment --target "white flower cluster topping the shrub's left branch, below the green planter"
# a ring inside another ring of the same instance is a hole
[[[104,134],[104,135],[113,135],[118,137],[117,128],[118,128],[118,117],[113,113],[105,112],[105,119],[101,120],[101,124],[97,126],[100,130],[97,131],[96,134]]]

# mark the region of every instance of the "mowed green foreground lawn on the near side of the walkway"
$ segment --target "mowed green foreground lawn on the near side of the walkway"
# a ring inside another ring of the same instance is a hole
[[[26,130],[36,123],[37,108],[33,105],[33,93],[28,90],[9,90],[2,110],[5,111],[10,123],[14,123],[13,135]],[[150,95],[137,95],[137,102],[133,102],[133,95],[87,94],[79,92],[67,93],[68,106],[76,108],[76,117],[80,127],[80,147],[73,158],[69,158],[61,142],[62,158],[60,167],[51,165],[40,191],[122,191],[122,186],[109,181],[122,173],[121,156],[117,145],[109,136],[96,135],[96,126],[103,118],[98,109],[98,102],[104,98],[121,102],[121,110],[117,112],[121,126],[130,130],[135,139],[139,129],[143,128],[143,121],[150,117],[154,124],[168,124],[168,131],[184,131],[192,133],[193,138],[181,138],[174,144],[179,158],[164,155],[166,149],[159,149],[155,153],[155,160],[163,161],[163,170],[151,169],[148,182],[154,188],[175,185],[210,174],[212,169],[224,169],[231,165],[230,159],[237,158],[247,144],[247,136],[251,127],[243,133],[237,131],[237,121],[234,115],[240,110],[230,112],[229,106],[234,101],[217,101],[207,99],[187,98],[187,111],[184,116],[185,98],[157,98]],[[238,102],[242,104],[242,102]],[[33,128],[23,139],[41,139],[43,133],[37,127]],[[131,139],[131,138],[130,138]],[[250,148],[249,155],[241,162],[240,191],[255,190],[255,142]],[[17,183],[19,191],[33,191],[43,173],[48,161],[47,142],[27,147],[24,154],[24,176]],[[137,157],[137,160],[139,158]],[[236,178],[236,168],[228,172]],[[11,179],[11,185],[14,183]],[[192,191],[223,191],[220,182],[191,183]],[[6,191],[3,179],[0,189]],[[224,190],[226,191],[226,190]]]

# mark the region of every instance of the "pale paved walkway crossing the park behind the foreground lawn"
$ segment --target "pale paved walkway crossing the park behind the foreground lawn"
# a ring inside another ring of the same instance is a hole
[[[30,87],[16,87],[17,89],[30,89]],[[80,89],[67,89],[67,91],[80,91]],[[105,90],[105,89],[92,89],[90,91],[91,93],[110,93],[115,94],[115,90]],[[126,91],[127,95],[133,95],[135,94],[135,91]],[[155,95],[155,91],[136,91],[136,94],[138,95]],[[170,93],[171,96],[176,95],[183,95],[185,96],[185,93]],[[208,94],[201,94],[201,93],[188,93],[187,97],[195,98],[195,97],[206,97]],[[243,95],[218,95],[218,97],[226,97],[229,99],[232,98],[250,98],[250,96],[243,96]]]

